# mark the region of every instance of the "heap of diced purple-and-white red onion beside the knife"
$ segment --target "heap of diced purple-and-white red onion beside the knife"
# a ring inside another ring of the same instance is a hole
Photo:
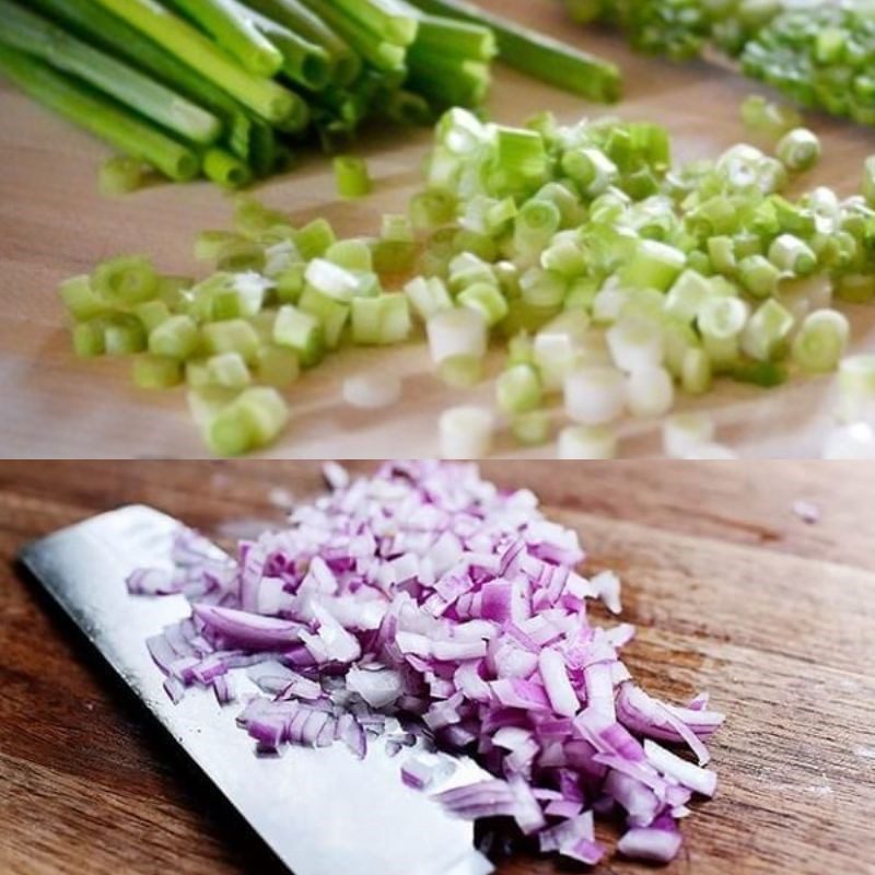
[[[618,578],[578,573],[576,534],[475,466],[324,474],[329,494],[242,541],[236,560],[183,530],[174,572],[129,578],[132,594],[192,605],[147,641],[173,701],[192,685],[233,701],[241,672],[260,690],[237,716],[258,751],[340,742],[363,757],[383,736],[392,755],[429,734],[494,775],[434,796],[457,816],[512,818],[542,850],[593,865],[605,853],[593,814],[619,807],[619,851],[672,860],[690,797],[714,793],[702,739],[723,715],[707,696],[685,708],[632,682],[618,651],[634,628],[602,629],[586,612],[593,598],[620,611]],[[700,765],[654,739],[686,744]],[[400,779],[425,790],[441,769],[408,757]]]

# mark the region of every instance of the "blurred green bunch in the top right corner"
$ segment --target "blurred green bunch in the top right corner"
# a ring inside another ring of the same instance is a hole
[[[621,28],[678,60],[713,46],[802,106],[875,125],[871,0],[564,0],[575,20]]]

